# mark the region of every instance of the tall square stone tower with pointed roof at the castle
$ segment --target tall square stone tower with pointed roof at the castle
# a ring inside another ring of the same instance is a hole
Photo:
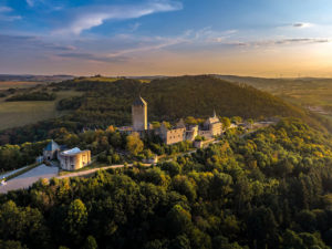
[[[141,97],[136,97],[132,105],[133,129],[142,132],[147,129],[147,104]]]

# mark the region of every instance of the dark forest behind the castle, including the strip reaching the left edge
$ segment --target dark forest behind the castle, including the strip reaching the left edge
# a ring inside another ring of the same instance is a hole
[[[94,129],[108,125],[129,125],[131,105],[139,93],[148,103],[149,122],[175,122],[187,116],[207,117],[216,110],[221,116],[294,116],[321,129],[329,126],[329,122],[322,125],[302,108],[271,94],[207,75],[167,77],[149,83],[132,79],[75,79],[53,83],[49,87],[55,93],[81,91],[83,96],[63,98],[58,103],[58,110],[68,110],[72,113],[70,115],[0,132],[0,145],[46,139],[50,138],[49,131],[61,127],[80,133],[83,127]]]

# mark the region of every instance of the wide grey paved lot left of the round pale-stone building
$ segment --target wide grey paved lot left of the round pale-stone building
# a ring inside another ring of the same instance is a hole
[[[32,184],[38,181],[40,178],[50,179],[58,176],[58,167],[49,167],[45,165],[40,165],[11,180],[7,181],[7,185],[0,186],[0,193],[8,193],[10,190],[29,188]]]

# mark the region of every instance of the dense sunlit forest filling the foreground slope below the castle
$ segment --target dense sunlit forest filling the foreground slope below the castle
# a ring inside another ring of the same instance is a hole
[[[0,248],[324,249],[332,139],[286,118],[155,167],[40,180],[0,203]]]

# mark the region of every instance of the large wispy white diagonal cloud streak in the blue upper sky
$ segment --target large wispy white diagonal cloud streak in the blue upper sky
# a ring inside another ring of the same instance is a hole
[[[70,11],[70,15],[73,15],[70,24],[55,30],[54,33],[80,34],[82,31],[98,27],[107,20],[136,19],[152,13],[180,9],[183,9],[180,2],[166,0],[128,6],[82,7]]]

